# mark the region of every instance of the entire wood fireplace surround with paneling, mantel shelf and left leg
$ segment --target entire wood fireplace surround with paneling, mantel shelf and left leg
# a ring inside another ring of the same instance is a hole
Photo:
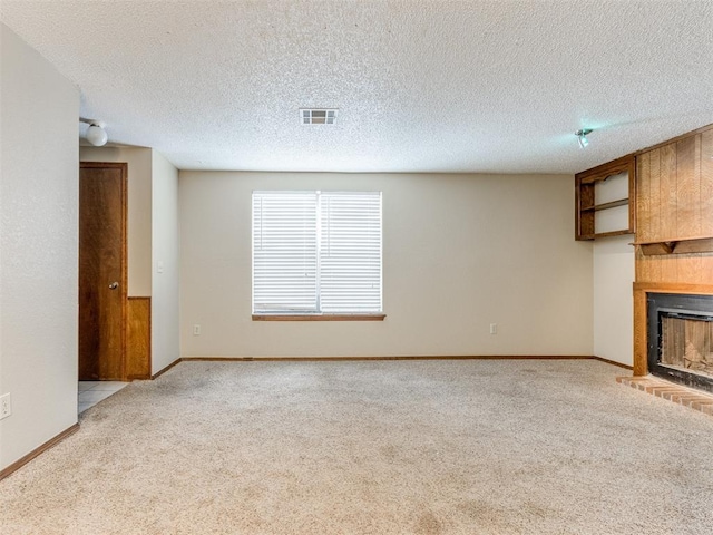
[[[645,376],[648,294],[713,295],[713,125],[635,158],[634,376]]]

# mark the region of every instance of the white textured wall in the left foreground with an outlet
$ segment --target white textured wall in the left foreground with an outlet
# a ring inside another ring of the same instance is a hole
[[[79,91],[0,23],[0,469],[77,422]]]

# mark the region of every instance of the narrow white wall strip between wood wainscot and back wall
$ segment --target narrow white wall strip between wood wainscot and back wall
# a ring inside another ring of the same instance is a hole
[[[152,373],[180,357],[178,343],[178,171],[152,157]]]

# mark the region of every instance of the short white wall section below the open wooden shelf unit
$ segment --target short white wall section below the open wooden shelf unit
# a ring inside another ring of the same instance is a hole
[[[633,236],[594,243],[594,354],[634,364]]]

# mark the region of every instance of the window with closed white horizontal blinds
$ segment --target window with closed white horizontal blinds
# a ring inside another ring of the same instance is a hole
[[[380,192],[254,192],[253,314],[381,314]]]

